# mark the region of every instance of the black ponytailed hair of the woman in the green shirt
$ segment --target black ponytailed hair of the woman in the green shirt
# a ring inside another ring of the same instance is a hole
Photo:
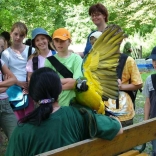
[[[62,85],[60,78],[51,68],[43,67],[37,69],[32,74],[29,84],[29,95],[36,103],[40,100],[51,98],[54,98],[54,102],[56,102],[61,91]],[[20,119],[19,123],[29,122],[40,125],[42,120],[49,118],[52,111],[52,102],[39,104],[34,111]]]

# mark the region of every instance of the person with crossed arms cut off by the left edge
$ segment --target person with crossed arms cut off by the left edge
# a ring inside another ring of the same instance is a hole
[[[4,50],[4,46],[5,39],[0,36],[0,53]],[[0,128],[3,129],[8,139],[10,139],[11,134],[17,125],[17,119],[12,108],[10,107],[8,95],[5,91],[8,87],[15,83],[16,77],[10,72],[4,64],[4,61],[0,60]],[[0,144],[1,141],[0,136]]]

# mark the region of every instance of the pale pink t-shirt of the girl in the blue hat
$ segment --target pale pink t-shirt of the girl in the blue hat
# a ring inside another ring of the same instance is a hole
[[[47,57],[52,56],[52,52],[49,51]],[[38,55],[38,68],[44,67],[45,57]],[[27,72],[33,72],[33,62],[32,59],[29,59],[26,65]]]

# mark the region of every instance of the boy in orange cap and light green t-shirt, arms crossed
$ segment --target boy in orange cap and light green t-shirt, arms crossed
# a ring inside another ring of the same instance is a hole
[[[64,66],[63,68],[67,68],[63,69],[63,71],[71,73],[71,76],[62,76],[62,73],[60,73],[60,71],[56,69],[60,65],[52,65],[51,63],[56,60],[50,62],[49,60],[51,59],[51,57],[45,60],[45,66],[54,69],[61,78],[63,91],[59,96],[59,103],[61,104],[61,106],[68,106],[70,100],[75,97],[74,88],[76,79],[82,76],[82,58],[79,55],[68,50],[68,47],[71,43],[71,36],[67,29],[59,28],[55,30],[52,39],[58,53],[51,57],[55,57],[55,59],[59,61],[59,64],[62,63]]]

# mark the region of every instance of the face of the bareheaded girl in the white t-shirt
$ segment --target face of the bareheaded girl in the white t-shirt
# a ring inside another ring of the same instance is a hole
[[[20,30],[18,28],[15,28],[11,33],[10,33],[11,39],[13,44],[23,44],[23,39],[25,38],[26,35],[21,34]]]

